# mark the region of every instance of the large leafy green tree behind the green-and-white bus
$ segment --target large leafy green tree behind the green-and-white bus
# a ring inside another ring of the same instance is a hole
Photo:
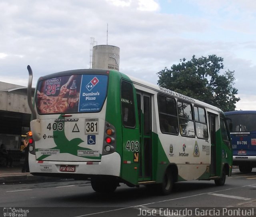
[[[223,75],[223,58],[209,55],[208,58],[196,58],[186,62],[180,59],[178,65],[171,69],[164,68],[158,72],[158,85],[216,106],[222,111],[234,111],[236,102],[240,100],[235,95],[238,90],[234,85],[234,71],[226,71]]]

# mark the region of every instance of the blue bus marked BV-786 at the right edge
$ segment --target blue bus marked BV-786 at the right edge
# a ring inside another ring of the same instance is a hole
[[[233,165],[242,173],[256,167],[256,111],[225,112],[232,139]]]

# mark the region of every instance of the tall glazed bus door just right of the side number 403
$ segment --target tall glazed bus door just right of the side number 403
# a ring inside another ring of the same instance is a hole
[[[137,91],[136,97],[140,125],[139,181],[150,181],[152,180],[151,95]]]

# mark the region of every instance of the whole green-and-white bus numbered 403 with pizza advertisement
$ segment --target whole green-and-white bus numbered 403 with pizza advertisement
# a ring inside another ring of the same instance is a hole
[[[173,183],[231,175],[224,113],[209,104],[115,70],[70,70],[39,78],[32,103],[33,175],[90,180],[97,192],[119,183],[162,194]]]

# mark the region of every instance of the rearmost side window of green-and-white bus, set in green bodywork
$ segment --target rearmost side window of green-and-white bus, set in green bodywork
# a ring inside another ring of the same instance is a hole
[[[135,108],[132,84],[121,83],[122,123],[125,127],[135,127]]]

